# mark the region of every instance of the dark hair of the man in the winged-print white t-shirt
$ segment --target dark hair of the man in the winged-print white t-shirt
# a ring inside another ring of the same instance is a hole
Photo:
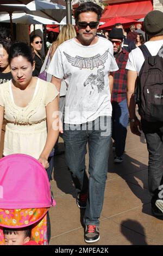
[[[76,20],[76,23],[78,21],[78,16],[80,13],[87,13],[88,11],[93,11],[98,16],[98,22],[101,18],[101,15],[103,13],[103,9],[93,2],[85,2],[79,5],[79,7],[74,11],[74,18]]]

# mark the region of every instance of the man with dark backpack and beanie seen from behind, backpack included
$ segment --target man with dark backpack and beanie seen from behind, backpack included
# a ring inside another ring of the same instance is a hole
[[[129,53],[127,103],[129,108],[130,129],[135,135],[145,133],[148,163],[148,188],[151,193],[152,212],[163,216],[162,196],[162,137],[163,137],[163,13],[158,10],[149,12],[143,22],[149,36],[144,46]],[[135,114],[135,82],[137,81],[136,99],[139,105],[141,123]]]

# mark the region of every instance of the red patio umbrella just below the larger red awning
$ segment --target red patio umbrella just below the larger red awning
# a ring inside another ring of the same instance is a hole
[[[107,22],[105,22],[104,25],[102,26],[99,26],[99,30],[100,29],[107,29],[107,28],[111,28],[112,26],[115,25],[115,23],[122,23],[123,24],[127,24],[127,23],[135,23],[137,22],[136,20],[133,20],[133,19],[127,19],[127,18],[124,18],[124,17],[114,17],[114,18],[111,18],[111,19],[108,19]]]

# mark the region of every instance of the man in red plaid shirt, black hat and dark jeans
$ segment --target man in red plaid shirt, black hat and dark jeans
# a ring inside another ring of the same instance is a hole
[[[122,155],[126,144],[128,107],[127,107],[127,70],[126,63],[128,52],[122,48],[123,31],[122,28],[112,28],[109,39],[114,46],[114,57],[119,70],[115,71],[114,86],[112,89],[112,138],[115,147],[115,163],[123,161]]]

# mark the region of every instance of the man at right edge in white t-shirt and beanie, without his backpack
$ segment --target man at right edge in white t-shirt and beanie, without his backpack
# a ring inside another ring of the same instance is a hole
[[[149,41],[145,43],[152,56],[155,56],[163,45],[163,13],[158,10],[149,12],[144,20],[143,27]],[[139,129],[145,133],[148,163],[148,188],[151,193],[152,212],[156,216],[163,216],[163,200],[160,197],[162,189],[162,136],[163,122],[149,122],[141,118],[141,123],[135,114],[134,88],[135,81],[145,58],[139,47],[129,53],[126,69],[128,69],[127,101],[129,107],[130,129],[135,135],[141,136]]]

